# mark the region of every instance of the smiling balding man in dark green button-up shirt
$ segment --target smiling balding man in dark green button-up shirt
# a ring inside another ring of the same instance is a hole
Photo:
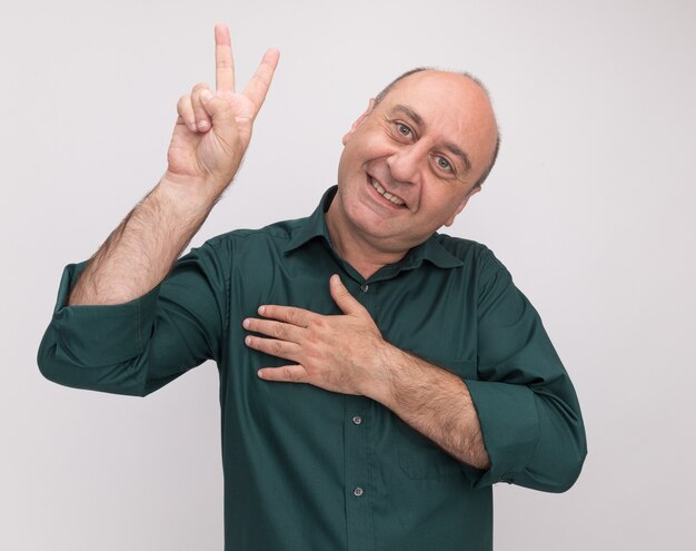
[[[222,26],[216,61],[215,92],[178,104],[162,179],[66,267],[42,373],[146,395],[215,360],[226,549],[491,549],[493,484],[567,490],[586,443],[507,269],[436,233],[495,160],[487,94],[466,75],[407,73],[346,134],[338,187],[310,217],[177,260],[239,167],[278,52],[243,94]]]

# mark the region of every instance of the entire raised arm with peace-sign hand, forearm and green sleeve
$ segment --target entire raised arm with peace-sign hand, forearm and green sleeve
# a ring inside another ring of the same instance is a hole
[[[216,94],[197,85],[179,100],[165,177],[88,263],[63,273],[38,355],[52,381],[145,395],[220,357],[229,255],[207,244],[168,274],[239,168],[278,52],[237,94],[227,27],[215,38]]]

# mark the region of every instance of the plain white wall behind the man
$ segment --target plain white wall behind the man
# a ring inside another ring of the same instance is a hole
[[[44,381],[63,265],[157,183],[176,101],[213,81],[228,22],[245,82],[280,66],[237,183],[192,242],[309,214],[368,98],[420,65],[467,69],[504,136],[451,228],[540,311],[589,455],[560,495],[496,486],[497,550],[696,549],[696,4],[645,0],[64,0],[0,20],[0,548],[220,549],[218,381],[146,400]]]

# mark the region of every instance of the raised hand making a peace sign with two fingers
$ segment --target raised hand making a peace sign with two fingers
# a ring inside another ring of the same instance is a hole
[[[198,83],[177,104],[165,178],[197,186],[217,198],[235,177],[249,141],[253,120],[264,105],[278,65],[278,50],[268,50],[245,91],[235,89],[235,60],[229,29],[215,28],[216,90]]]

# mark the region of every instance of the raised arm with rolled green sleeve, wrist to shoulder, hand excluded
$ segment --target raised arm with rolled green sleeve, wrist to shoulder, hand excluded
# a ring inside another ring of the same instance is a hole
[[[177,263],[215,200],[162,179],[87,263],[63,272],[41,341],[59,384],[146,395],[217,355],[223,284],[208,248]]]

